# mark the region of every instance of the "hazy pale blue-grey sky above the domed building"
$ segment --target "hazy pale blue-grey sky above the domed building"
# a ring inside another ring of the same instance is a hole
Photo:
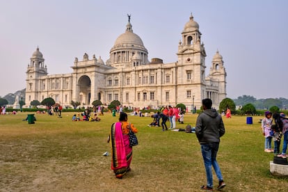
[[[49,74],[71,73],[87,53],[104,61],[131,14],[148,58],[177,61],[191,13],[205,44],[206,75],[217,49],[227,72],[227,97],[288,98],[286,0],[0,0],[0,96],[26,88],[26,68],[39,47]]]

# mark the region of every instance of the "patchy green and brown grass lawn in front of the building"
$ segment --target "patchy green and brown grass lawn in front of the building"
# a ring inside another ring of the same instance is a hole
[[[105,113],[100,122],[72,122],[74,113],[0,115],[0,191],[200,191],[206,184],[200,145],[195,134],[147,127],[152,118],[129,116],[139,130],[131,172],[116,179],[111,170],[109,130],[118,116]],[[197,115],[184,116],[195,126]],[[253,117],[223,118],[218,163],[227,186],[222,191],[287,191],[288,179],[273,177],[264,152],[264,136]],[[169,126],[169,122],[167,122]],[[282,143],[281,143],[282,148]],[[218,181],[214,175],[214,189]]]

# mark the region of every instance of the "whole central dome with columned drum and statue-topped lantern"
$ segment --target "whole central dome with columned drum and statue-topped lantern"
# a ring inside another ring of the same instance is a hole
[[[141,38],[133,33],[132,25],[128,15],[128,24],[125,33],[122,33],[116,40],[110,50],[110,65],[112,67],[131,67],[131,59],[136,54],[137,58],[141,58],[141,65],[149,63],[147,55],[148,51],[144,47]]]

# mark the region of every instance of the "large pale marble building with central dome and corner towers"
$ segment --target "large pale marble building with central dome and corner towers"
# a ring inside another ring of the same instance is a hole
[[[84,54],[81,60],[75,58],[70,74],[48,74],[37,48],[26,71],[25,103],[47,97],[63,106],[70,106],[71,101],[88,106],[95,100],[103,104],[118,100],[123,106],[141,108],[182,103],[190,111],[193,106],[200,109],[202,99],[209,97],[218,109],[227,95],[223,58],[216,51],[205,77],[205,47],[192,15],[181,34],[175,63],[163,63],[160,58],[149,61],[148,51],[129,21],[106,63],[101,57],[90,59]]]

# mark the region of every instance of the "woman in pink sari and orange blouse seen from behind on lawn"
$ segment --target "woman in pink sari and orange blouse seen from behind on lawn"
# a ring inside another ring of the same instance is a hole
[[[138,129],[127,120],[127,113],[120,113],[119,122],[113,123],[111,127],[111,169],[118,179],[122,179],[123,175],[131,170],[132,147],[129,146],[129,129],[134,133],[138,132]]]

